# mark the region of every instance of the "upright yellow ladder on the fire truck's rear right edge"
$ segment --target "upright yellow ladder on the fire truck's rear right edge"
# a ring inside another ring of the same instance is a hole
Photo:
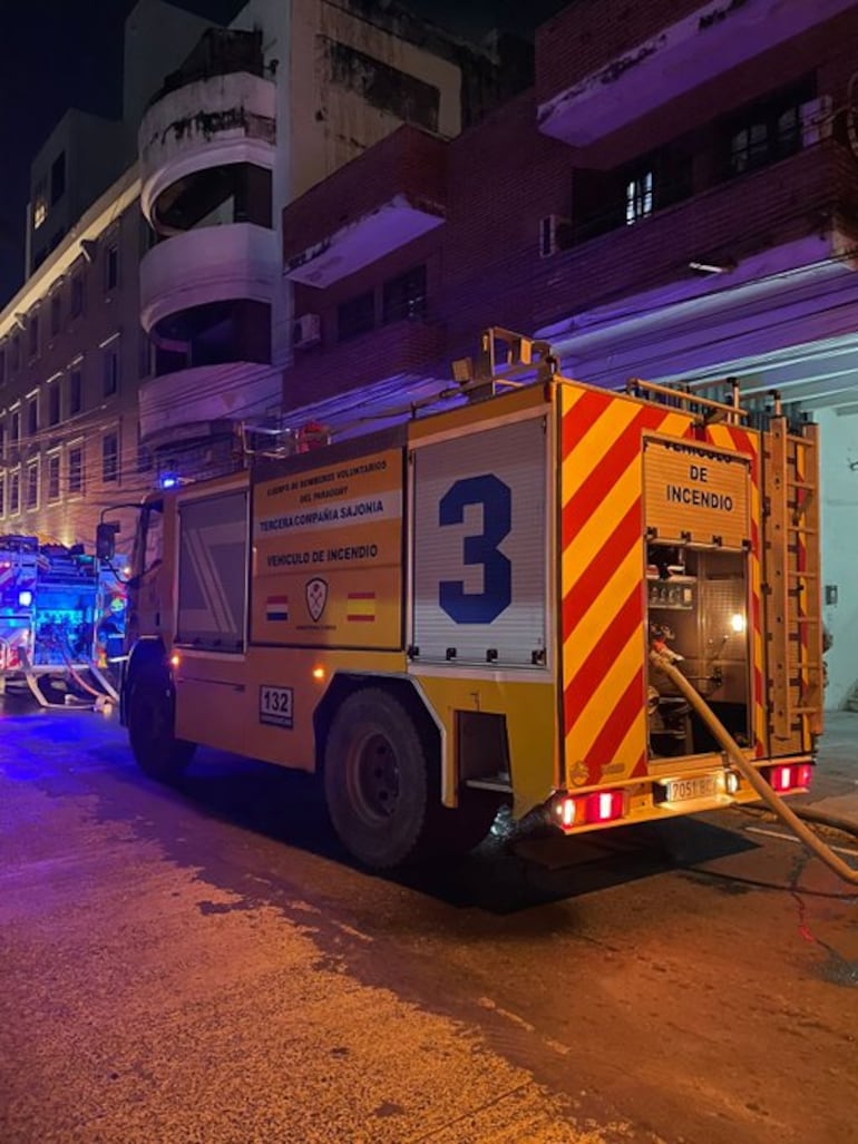
[[[770,733],[788,740],[802,730],[821,732],[819,427],[791,430],[777,398],[763,435],[763,480]]]

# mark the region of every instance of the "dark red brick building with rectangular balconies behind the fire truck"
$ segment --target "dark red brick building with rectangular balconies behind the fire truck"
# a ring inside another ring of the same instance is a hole
[[[844,702],[857,34],[848,0],[570,6],[538,32],[531,90],[452,141],[397,133],[287,206],[284,270],[315,331],[284,376],[294,422],[407,408],[493,325],[599,386],[734,376],[758,406],[777,390],[827,434],[828,697]]]

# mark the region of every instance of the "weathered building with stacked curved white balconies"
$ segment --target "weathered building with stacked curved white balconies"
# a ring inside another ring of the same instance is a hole
[[[157,239],[140,413],[159,469],[233,467],[241,423],[278,420],[283,371],[317,339],[283,276],[283,207],[405,126],[456,136],[527,81],[529,56],[503,47],[470,49],[396,6],[252,0],[167,78],[140,128]]]

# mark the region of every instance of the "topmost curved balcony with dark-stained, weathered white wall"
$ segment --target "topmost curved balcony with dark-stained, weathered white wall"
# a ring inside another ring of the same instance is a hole
[[[196,172],[275,164],[276,87],[248,72],[197,79],[168,90],[140,126],[141,209],[157,225],[160,196]]]

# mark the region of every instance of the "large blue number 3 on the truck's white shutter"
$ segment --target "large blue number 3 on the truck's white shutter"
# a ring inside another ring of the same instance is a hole
[[[438,603],[455,623],[491,623],[513,602],[513,566],[498,551],[511,527],[511,501],[509,485],[491,474],[456,480],[442,498],[442,525],[462,524],[466,506],[483,506],[482,533],[462,543],[462,563],[483,565],[483,590],[467,593],[463,580],[442,580],[438,586]]]

